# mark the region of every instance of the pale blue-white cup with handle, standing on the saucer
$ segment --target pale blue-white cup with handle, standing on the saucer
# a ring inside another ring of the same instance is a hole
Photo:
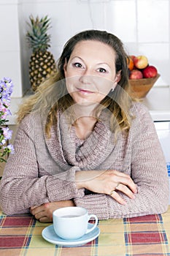
[[[93,218],[95,224],[88,229],[88,222]],[[95,214],[88,214],[82,207],[63,207],[53,211],[53,227],[55,233],[66,240],[75,240],[96,228],[98,218]]]

